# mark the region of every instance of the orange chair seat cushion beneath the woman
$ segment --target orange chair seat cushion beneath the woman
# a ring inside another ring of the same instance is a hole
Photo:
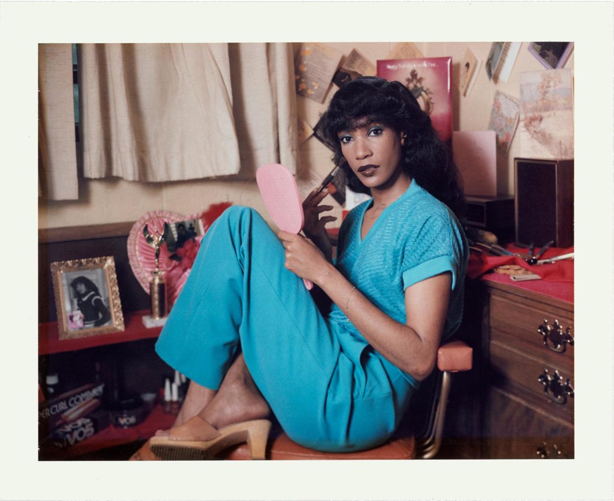
[[[249,459],[249,447],[241,444],[217,455],[220,459]],[[271,430],[266,448],[266,459],[413,459],[416,457],[416,441],[413,437],[394,438],[375,449],[360,452],[319,452],[300,446],[290,440],[280,429]]]

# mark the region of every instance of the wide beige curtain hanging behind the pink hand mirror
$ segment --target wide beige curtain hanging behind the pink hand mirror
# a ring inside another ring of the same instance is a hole
[[[296,168],[290,44],[83,44],[79,68],[85,177]]]

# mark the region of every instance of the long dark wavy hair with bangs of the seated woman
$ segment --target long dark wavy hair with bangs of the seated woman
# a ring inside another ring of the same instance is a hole
[[[411,91],[400,82],[378,77],[360,77],[338,90],[322,114],[322,133],[335,147],[333,162],[343,169],[349,188],[370,194],[352,172],[337,134],[370,123],[381,123],[406,134],[403,149],[405,172],[457,216],[464,213],[465,198],[450,148],[438,138],[430,117],[420,108]]]

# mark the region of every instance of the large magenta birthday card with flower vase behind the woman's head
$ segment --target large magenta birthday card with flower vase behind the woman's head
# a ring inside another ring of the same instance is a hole
[[[405,85],[430,115],[441,141],[452,138],[451,57],[380,60],[378,77]]]

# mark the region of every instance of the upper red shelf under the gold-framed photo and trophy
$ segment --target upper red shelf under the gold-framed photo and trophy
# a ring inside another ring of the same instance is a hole
[[[157,338],[162,330],[161,327],[147,328],[143,325],[142,317],[147,311],[134,311],[124,317],[125,330],[123,332],[111,332],[87,338],[60,340],[58,322],[39,324],[39,355],[49,355],[66,351],[75,351],[105,344],[126,343],[126,341],[138,341]]]

